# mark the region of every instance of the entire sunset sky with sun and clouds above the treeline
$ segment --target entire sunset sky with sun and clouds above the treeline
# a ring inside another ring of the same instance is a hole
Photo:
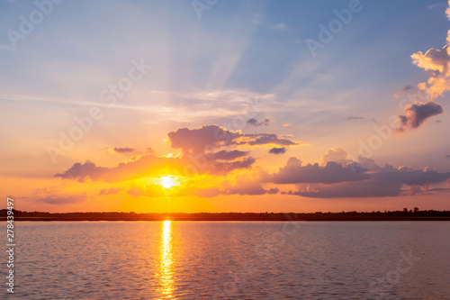
[[[450,210],[448,6],[0,0],[4,205]]]

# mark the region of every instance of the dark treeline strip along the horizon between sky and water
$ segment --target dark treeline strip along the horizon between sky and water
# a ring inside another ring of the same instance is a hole
[[[7,210],[0,210],[0,221]],[[450,211],[413,210],[372,213],[45,213],[14,211],[14,221],[450,221]]]

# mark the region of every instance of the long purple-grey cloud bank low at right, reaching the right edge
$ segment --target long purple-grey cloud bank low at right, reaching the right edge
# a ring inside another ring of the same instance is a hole
[[[417,170],[390,165],[382,168],[373,159],[360,161],[361,164],[328,161],[324,167],[318,164],[303,167],[299,159],[291,158],[286,167],[273,175],[273,182],[296,184],[297,190],[291,190],[289,195],[341,198],[430,194],[446,190],[429,188],[430,185],[444,183],[450,178],[450,172],[439,173],[434,168]]]

